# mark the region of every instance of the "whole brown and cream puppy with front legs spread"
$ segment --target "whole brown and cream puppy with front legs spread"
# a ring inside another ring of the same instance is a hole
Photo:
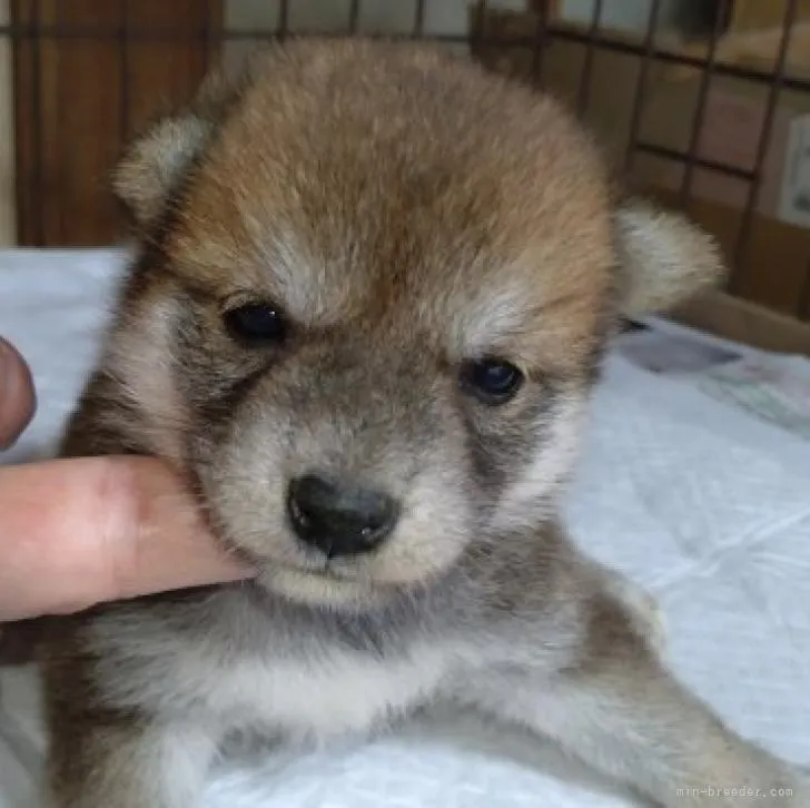
[[[233,733],[320,743],[438,700],[662,806],[810,805],[557,519],[609,336],[719,277],[707,235],[618,198],[551,99],[413,43],[270,48],[116,188],[137,256],[62,454],[174,464],[257,578],[61,632],[53,806],[191,808]]]

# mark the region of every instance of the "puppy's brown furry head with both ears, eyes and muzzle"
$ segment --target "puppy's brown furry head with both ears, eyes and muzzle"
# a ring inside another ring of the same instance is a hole
[[[613,208],[555,104],[414,46],[214,79],[117,186],[144,245],[105,361],[119,428],[308,602],[428,583],[542,519],[616,306],[717,267],[685,223]]]

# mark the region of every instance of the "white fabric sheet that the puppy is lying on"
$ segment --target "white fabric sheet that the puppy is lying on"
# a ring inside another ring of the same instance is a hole
[[[96,355],[117,263],[109,250],[0,253],[0,333],[31,362],[40,400],[3,462],[52,451]],[[675,672],[744,733],[810,761],[810,446],[614,355],[569,511],[589,552],[660,599]],[[520,735],[435,723],[229,766],[204,808],[633,805],[573,768],[569,777],[553,750]],[[37,805],[40,749],[36,678],[3,674],[0,807]]]

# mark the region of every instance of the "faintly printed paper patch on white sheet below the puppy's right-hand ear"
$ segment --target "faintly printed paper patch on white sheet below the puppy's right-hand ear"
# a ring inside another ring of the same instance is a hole
[[[619,339],[628,359],[678,377],[707,395],[810,441],[810,359],[770,354],[668,325],[645,325]]]

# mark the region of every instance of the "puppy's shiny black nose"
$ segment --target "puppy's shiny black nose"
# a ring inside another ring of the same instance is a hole
[[[287,509],[298,536],[329,558],[374,550],[396,524],[396,502],[378,491],[319,474],[289,484]]]

